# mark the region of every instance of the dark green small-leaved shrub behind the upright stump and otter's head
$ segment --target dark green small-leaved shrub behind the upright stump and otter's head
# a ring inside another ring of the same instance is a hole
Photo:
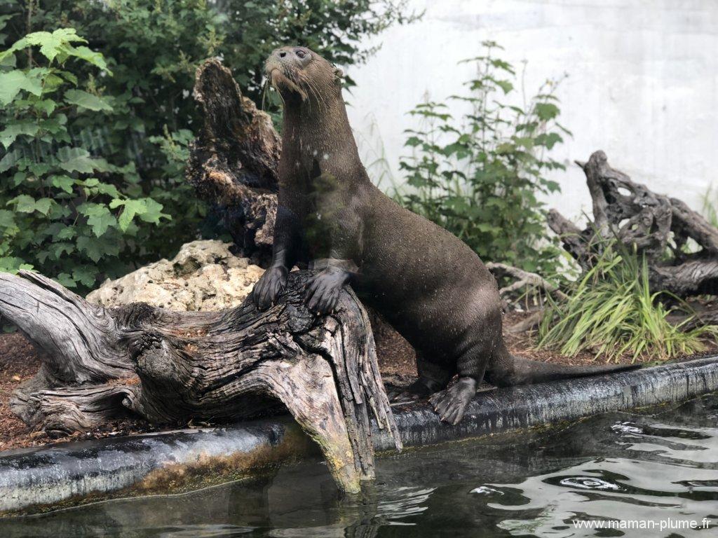
[[[83,118],[83,147],[116,166],[134,162],[134,195],[158,200],[174,217],[145,237],[143,250],[157,258],[173,255],[201,233],[205,207],[176,158],[198,128],[191,93],[200,62],[222,57],[243,93],[259,105],[264,60],[274,48],[304,44],[350,65],[372,52],[361,44],[363,37],[410,20],[404,11],[406,0],[0,0],[6,25],[0,40],[73,27],[104,55],[113,77],[96,76],[90,65],[73,71],[98,94],[113,96],[112,115]],[[31,59],[18,60],[32,67]]]

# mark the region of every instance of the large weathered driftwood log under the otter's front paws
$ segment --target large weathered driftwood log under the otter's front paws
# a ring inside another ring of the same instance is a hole
[[[276,306],[251,300],[220,312],[172,312],[144,303],[103,308],[49,278],[0,273],[0,316],[42,355],[11,399],[13,412],[52,435],[122,417],[215,423],[256,417],[280,403],[322,449],[340,489],[373,478],[370,417],[396,441],[363,306],[342,293],[335,314],[302,303],[308,273],[290,273]]]

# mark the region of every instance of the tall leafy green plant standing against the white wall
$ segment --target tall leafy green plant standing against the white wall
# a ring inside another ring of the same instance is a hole
[[[396,190],[398,202],[446,228],[484,260],[554,273],[559,249],[546,231],[538,194],[559,191],[546,172],[565,169],[549,150],[569,131],[557,121],[559,80],[549,80],[525,105],[516,105],[516,70],[484,42],[485,55],[465,60],[477,75],[468,95],[452,95],[467,105],[459,121],[445,103],[429,101],[410,114],[411,156],[400,162],[409,188]]]

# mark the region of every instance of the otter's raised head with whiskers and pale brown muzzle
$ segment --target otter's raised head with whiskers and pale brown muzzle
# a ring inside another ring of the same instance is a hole
[[[341,96],[342,70],[307,47],[281,47],[265,62],[267,80],[282,98],[302,101]]]

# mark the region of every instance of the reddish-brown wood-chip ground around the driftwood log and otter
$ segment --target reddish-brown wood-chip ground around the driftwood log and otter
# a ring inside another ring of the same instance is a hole
[[[504,326],[516,324],[525,317],[526,313],[509,313],[504,318]],[[375,324],[374,334],[379,367],[385,380],[394,384],[406,384],[416,377],[414,349],[409,343],[386,326]],[[537,351],[534,349],[535,339],[531,333],[508,334],[504,331],[504,336],[511,353],[526,359],[572,365],[595,364],[593,354],[588,352],[578,354],[576,357],[563,357],[554,351]],[[715,347],[710,351],[715,351]],[[620,362],[630,362],[630,357],[623,357]],[[22,334],[0,334],[0,450],[151,430],[146,423],[122,421],[106,425],[93,432],[78,433],[60,440],[50,439],[44,433],[31,432],[22,420],[11,413],[9,400],[12,391],[20,383],[30,379],[37,372],[39,365],[37,353]]]

